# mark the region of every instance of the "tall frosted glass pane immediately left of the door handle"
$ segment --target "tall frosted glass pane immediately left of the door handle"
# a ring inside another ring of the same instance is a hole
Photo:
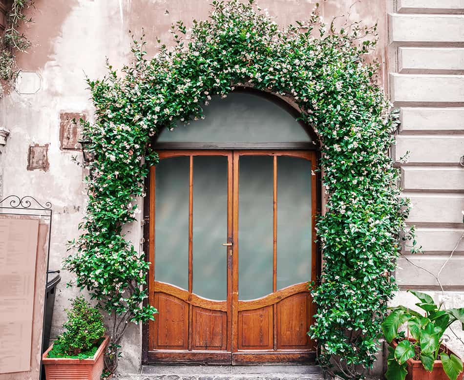
[[[227,299],[227,157],[193,157],[193,293]]]

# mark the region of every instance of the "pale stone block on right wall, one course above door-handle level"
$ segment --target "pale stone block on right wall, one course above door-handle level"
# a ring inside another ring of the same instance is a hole
[[[404,193],[411,200],[410,223],[462,223],[464,194]]]

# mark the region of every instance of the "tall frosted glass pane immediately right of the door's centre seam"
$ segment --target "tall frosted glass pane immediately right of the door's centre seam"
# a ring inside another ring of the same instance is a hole
[[[238,188],[238,298],[273,291],[273,157],[241,156]]]

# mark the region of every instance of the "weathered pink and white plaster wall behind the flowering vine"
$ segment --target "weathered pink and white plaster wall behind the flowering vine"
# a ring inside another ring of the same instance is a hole
[[[321,14],[329,23],[334,16],[379,24],[380,43],[376,56],[380,59],[382,78],[386,72],[386,12],[385,0],[319,0]],[[148,56],[156,52],[157,37],[169,44],[170,25],[183,20],[208,17],[208,0],[35,0],[28,10],[34,23],[23,27],[32,48],[18,54],[18,66],[34,71],[40,77],[40,89],[32,95],[13,91],[0,100],[0,126],[11,130],[1,154],[4,196],[33,195],[38,200],[52,202],[54,221],[51,238],[50,268],[61,267],[67,255],[66,242],[78,236],[78,223],[85,208],[85,173],[71,161],[73,155],[82,160],[79,151],[60,149],[60,112],[86,112],[92,120],[93,106],[86,89],[85,76],[101,78],[106,73],[105,58],[118,68],[131,59],[129,29],[139,36],[144,28]],[[282,26],[309,15],[316,1],[256,0]],[[168,12],[166,12],[168,11]],[[341,20],[340,18],[339,20]],[[337,21],[338,22],[338,21]],[[27,152],[33,144],[49,144],[49,170],[28,171]],[[0,181],[1,183],[1,181]],[[1,191],[2,190],[2,191]],[[139,200],[139,207],[142,208]],[[135,248],[141,235],[140,220],[126,227],[127,238]],[[62,272],[56,295],[52,336],[61,331],[63,308],[76,289],[64,284],[72,278]],[[122,372],[134,372],[141,363],[140,327],[131,325],[123,341]]]

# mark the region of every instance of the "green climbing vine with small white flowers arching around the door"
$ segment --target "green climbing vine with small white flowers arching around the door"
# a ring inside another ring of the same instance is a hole
[[[151,139],[177,120],[201,118],[211,96],[226,97],[234,85],[288,97],[320,138],[326,191],[327,211],[317,222],[324,268],[309,334],[329,373],[362,378],[397,289],[390,273],[408,211],[387,154],[398,122],[378,85],[378,64],[365,59],[376,27],[328,31],[315,9],[280,29],[253,0],[231,0],[213,1],[209,20],[194,20],[191,29],[179,21],[171,31],[173,48],[161,45],[147,60],[146,42],[134,41],[135,60],[122,75],[108,65],[104,79],[88,80],[96,111],[84,132],[95,160],[82,235],[65,267],[119,320],[113,342],[127,321],[152,319],[153,306],[141,306],[149,263],[122,234],[140,212],[135,199],[145,196],[144,178],[158,162]]]

